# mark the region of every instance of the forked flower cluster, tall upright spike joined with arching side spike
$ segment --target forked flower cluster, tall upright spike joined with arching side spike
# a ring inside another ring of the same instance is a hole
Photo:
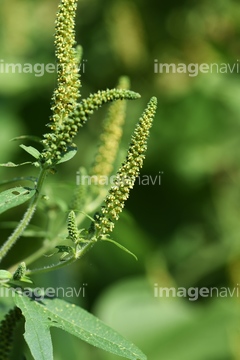
[[[136,99],[138,94],[128,90],[106,90],[90,95],[80,104],[79,61],[81,48],[75,48],[75,16],[77,0],[62,0],[57,12],[55,26],[55,47],[58,62],[57,88],[53,93],[51,110],[53,115],[48,126],[51,132],[44,135],[45,149],[39,160],[46,167],[52,167],[70,153],[76,153],[73,139],[79,128],[87,121],[93,110],[102,104],[118,99]]]

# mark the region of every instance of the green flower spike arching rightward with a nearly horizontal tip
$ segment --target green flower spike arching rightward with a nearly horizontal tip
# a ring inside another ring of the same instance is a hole
[[[78,130],[85,124],[88,117],[100,108],[103,104],[114,100],[138,99],[140,95],[130,90],[107,89],[91,94],[87,99],[77,104],[71,116],[65,118],[62,125],[59,125],[53,133],[45,134],[45,151],[41,154],[42,161],[49,165],[56,163],[67,151],[68,146],[72,145],[73,138]],[[45,161],[44,161],[45,160]]]

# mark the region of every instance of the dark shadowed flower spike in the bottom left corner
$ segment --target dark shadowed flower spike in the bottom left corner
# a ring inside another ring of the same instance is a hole
[[[0,323],[0,360],[11,358],[11,350],[13,347],[13,332],[21,316],[21,310],[17,307],[14,307],[8,312],[8,314]]]

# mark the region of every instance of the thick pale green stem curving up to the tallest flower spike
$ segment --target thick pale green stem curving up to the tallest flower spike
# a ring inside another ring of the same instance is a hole
[[[38,177],[38,182],[36,185],[36,192],[27,208],[27,211],[25,212],[19,225],[16,227],[14,232],[9,236],[7,241],[3,244],[3,246],[0,249],[0,262],[6,256],[6,254],[11,249],[11,247],[16,243],[16,241],[19,239],[19,237],[22,235],[23,231],[26,229],[27,225],[29,224],[30,220],[32,219],[33,214],[37,207],[41,188],[42,188],[43,182],[45,180],[45,177],[47,175],[47,172],[48,172],[47,169],[41,169],[39,177]]]

